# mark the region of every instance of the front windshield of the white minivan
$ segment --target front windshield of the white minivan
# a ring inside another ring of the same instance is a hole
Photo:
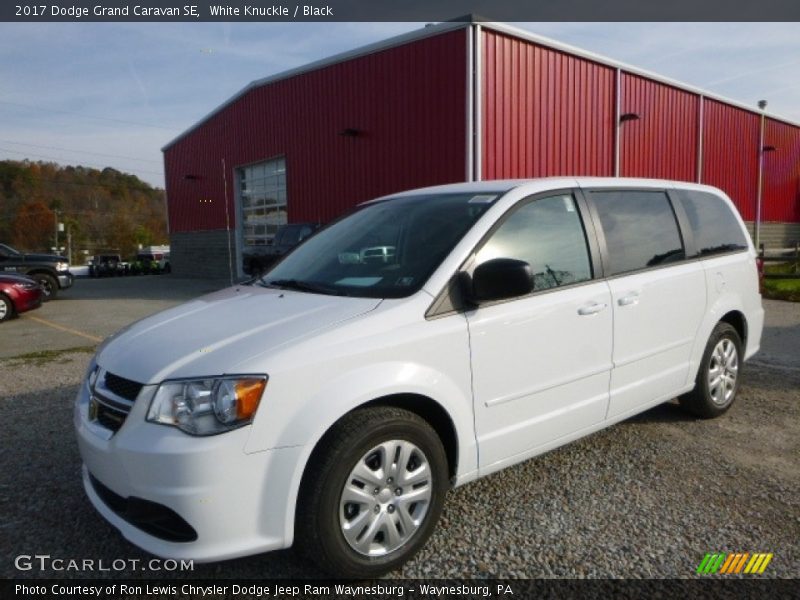
[[[436,194],[369,204],[309,238],[260,281],[314,293],[409,296],[498,196]]]

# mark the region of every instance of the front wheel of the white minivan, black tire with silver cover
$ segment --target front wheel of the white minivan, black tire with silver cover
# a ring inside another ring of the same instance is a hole
[[[436,432],[394,407],[356,410],[309,460],[298,497],[299,549],[336,577],[377,577],[431,535],[447,493]]]

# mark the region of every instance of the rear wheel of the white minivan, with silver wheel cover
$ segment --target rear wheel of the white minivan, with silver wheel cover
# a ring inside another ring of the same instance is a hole
[[[679,398],[689,412],[704,419],[718,417],[731,407],[742,378],[742,340],[728,323],[717,323],[708,338],[694,389]],[[720,373],[717,385],[712,385],[714,372]]]

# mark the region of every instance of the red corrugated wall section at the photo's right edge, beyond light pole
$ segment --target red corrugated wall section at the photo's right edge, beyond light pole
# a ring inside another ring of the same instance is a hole
[[[800,128],[766,121],[761,218],[800,223]]]

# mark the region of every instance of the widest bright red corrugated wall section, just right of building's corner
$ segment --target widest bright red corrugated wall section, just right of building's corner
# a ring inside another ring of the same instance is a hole
[[[483,32],[482,177],[613,174],[614,69]]]

